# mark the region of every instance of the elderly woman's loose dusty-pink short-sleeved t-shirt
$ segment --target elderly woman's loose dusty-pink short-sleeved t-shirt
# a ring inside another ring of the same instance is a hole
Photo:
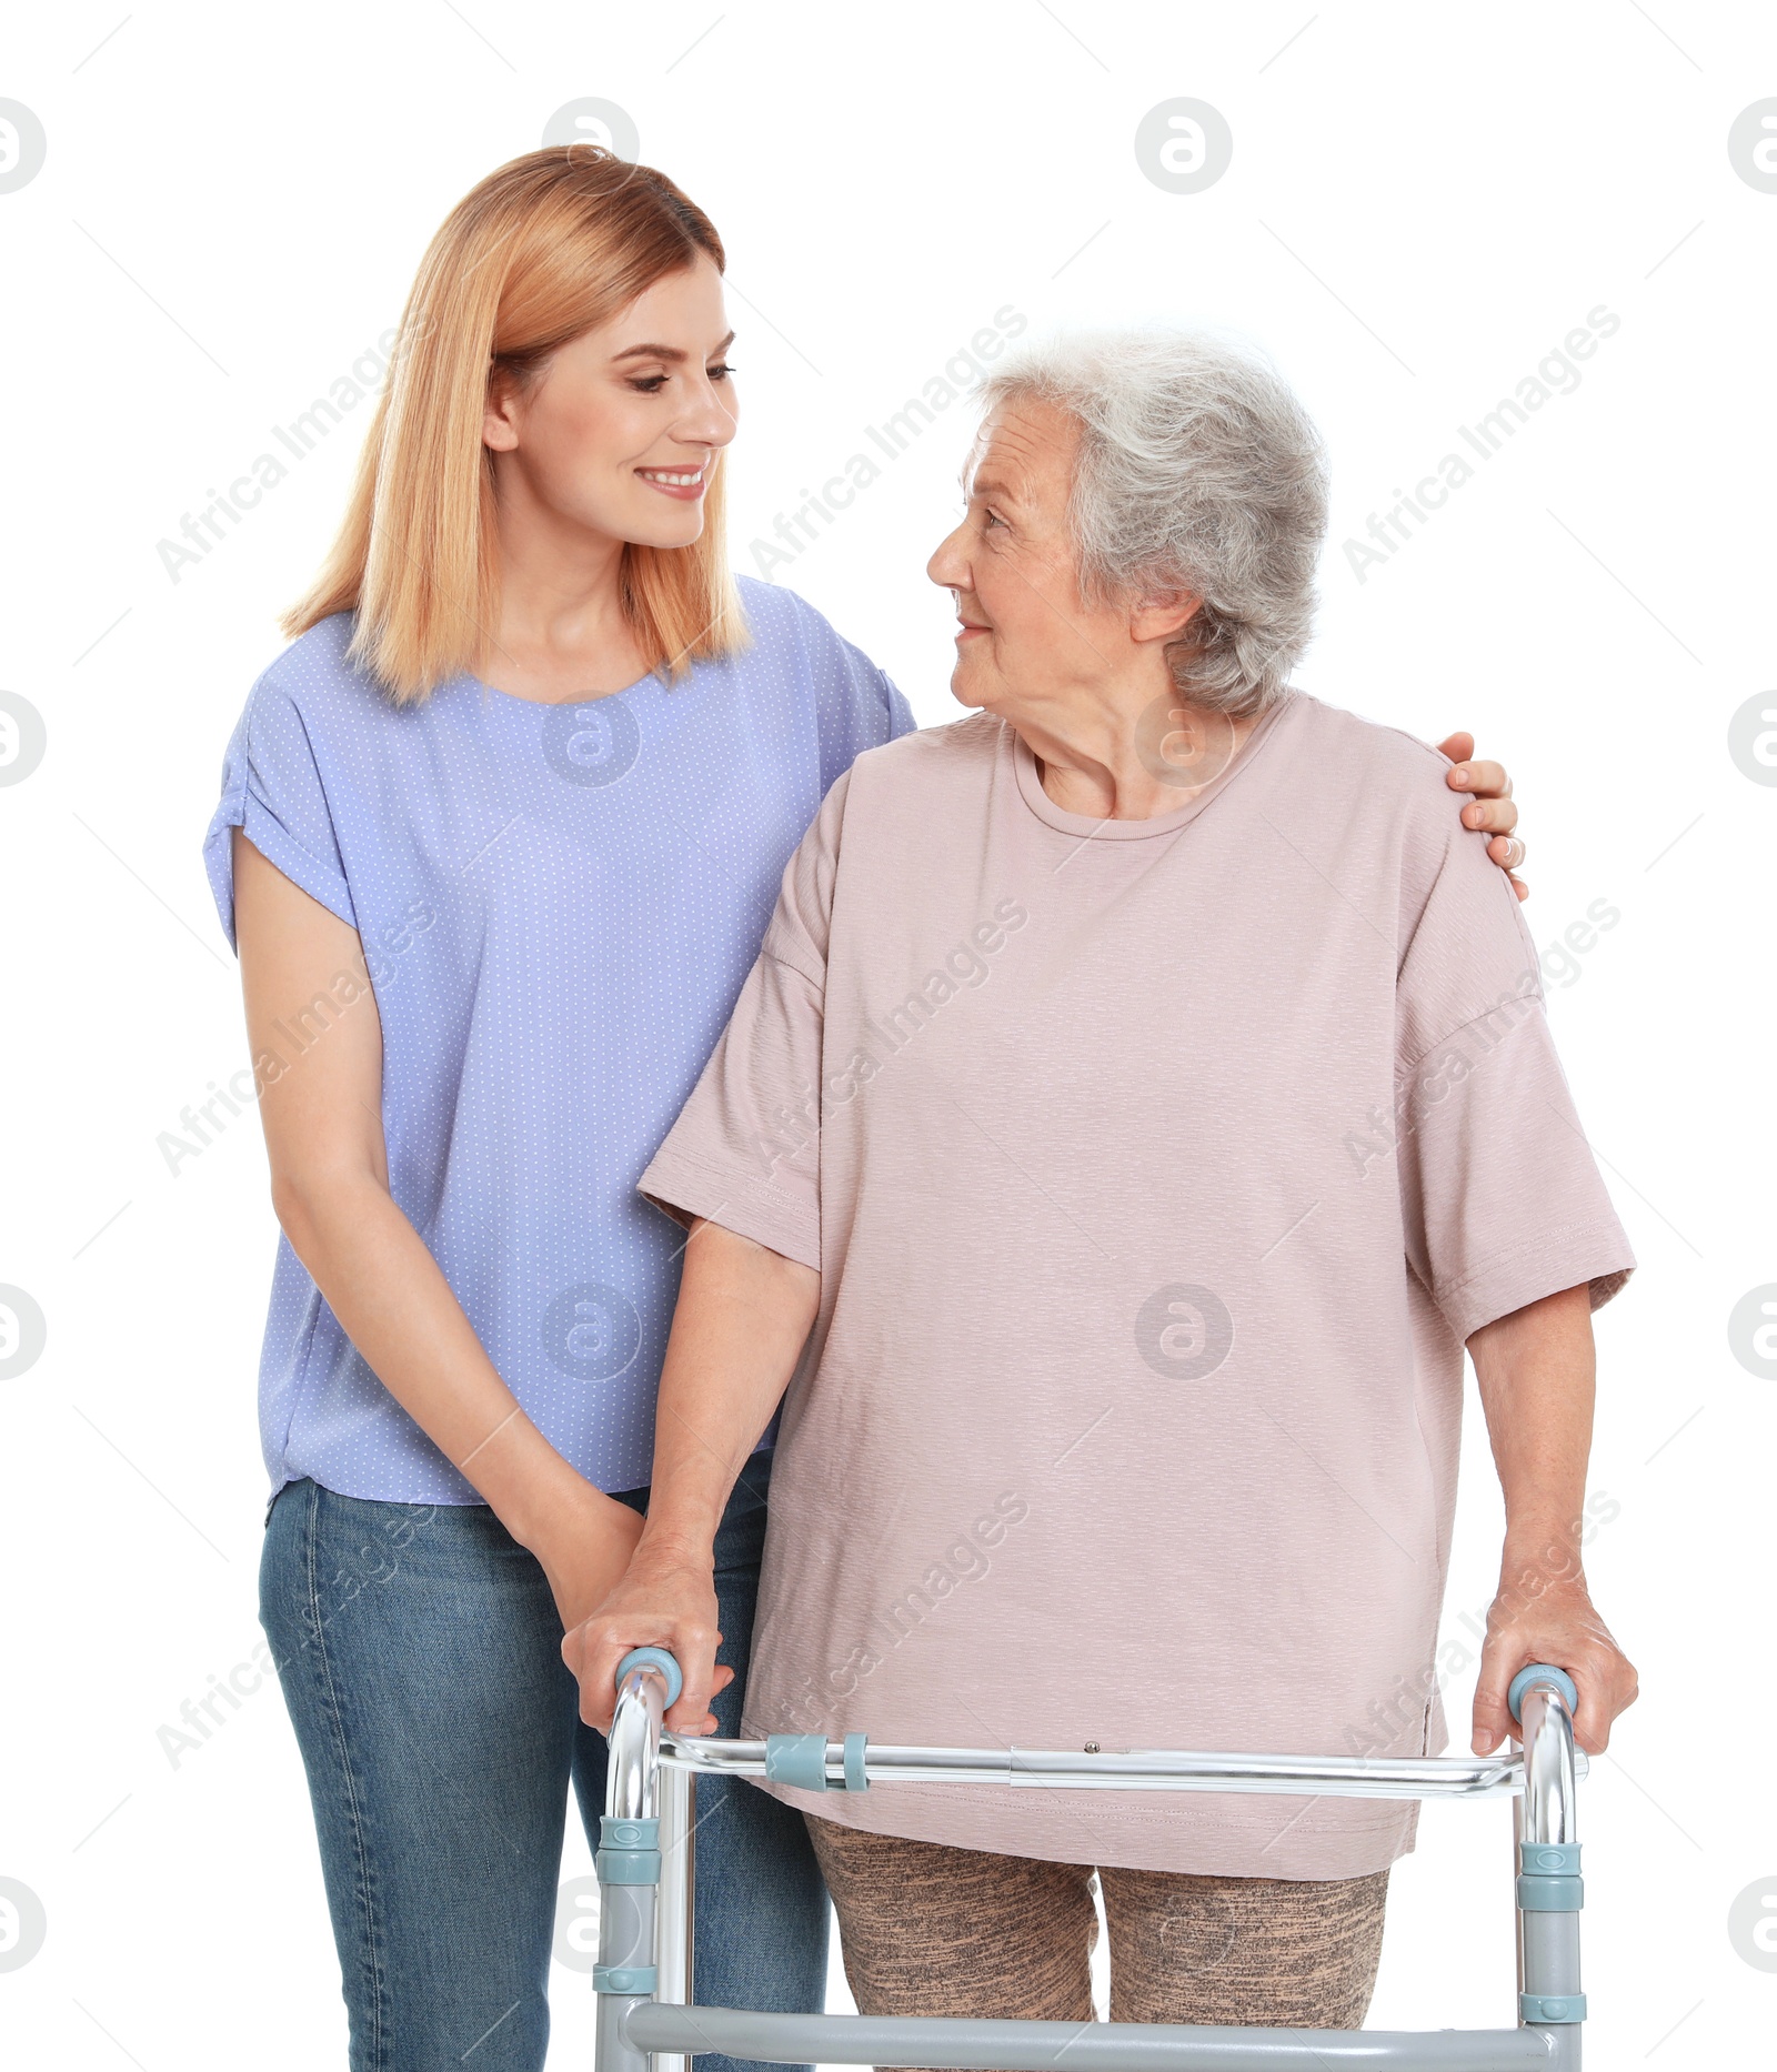
[[[1296,694],[1099,823],[977,715],[852,765],[643,1191],[821,1272],[746,1732],[1435,1753],[1480,1324],[1632,1268],[1443,756]],[[780,1796],[1072,1863],[1352,1877],[1412,1805]]]

